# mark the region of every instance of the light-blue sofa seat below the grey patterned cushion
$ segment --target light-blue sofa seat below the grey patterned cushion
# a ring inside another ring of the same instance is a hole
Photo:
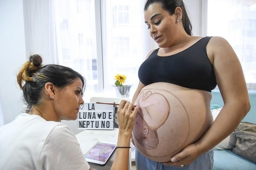
[[[214,150],[213,170],[256,170],[256,164],[231,152]]]

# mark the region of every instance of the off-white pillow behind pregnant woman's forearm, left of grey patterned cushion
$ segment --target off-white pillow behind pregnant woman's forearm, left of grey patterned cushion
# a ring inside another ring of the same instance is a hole
[[[219,115],[220,110],[222,108],[213,109],[211,113],[213,114],[213,120]],[[227,136],[224,140],[222,140],[218,145],[216,145],[214,150],[224,150],[224,149],[233,149],[236,146],[236,138],[234,136],[234,132],[232,132],[229,136]]]

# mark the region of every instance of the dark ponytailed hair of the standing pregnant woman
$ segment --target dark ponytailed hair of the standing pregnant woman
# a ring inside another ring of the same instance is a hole
[[[147,0],[147,2],[145,3],[144,11],[146,11],[148,7],[154,3],[160,3],[160,6],[164,10],[167,10],[170,15],[174,14],[176,7],[180,7],[183,13],[182,24],[184,30],[188,35],[192,35],[192,25],[188,18],[188,14],[185,8],[185,4],[183,3],[183,0]]]

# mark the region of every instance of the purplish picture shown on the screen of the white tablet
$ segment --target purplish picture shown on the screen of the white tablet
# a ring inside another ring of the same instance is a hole
[[[95,147],[86,154],[85,158],[105,162],[114,148],[115,145],[97,143],[97,145],[95,145]]]

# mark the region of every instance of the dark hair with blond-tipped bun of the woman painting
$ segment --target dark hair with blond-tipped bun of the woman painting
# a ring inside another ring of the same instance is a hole
[[[42,89],[47,82],[58,88],[65,88],[79,78],[82,81],[81,94],[83,95],[86,81],[81,74],[62,65],[49,64],[42,67],[42,62],[40,55],[30,56],[29,61],[25,62],[17,75],[17,82],[23,90],[24,102],[27,104],[27,112],[32,105],[39,104],[43,95]]]

